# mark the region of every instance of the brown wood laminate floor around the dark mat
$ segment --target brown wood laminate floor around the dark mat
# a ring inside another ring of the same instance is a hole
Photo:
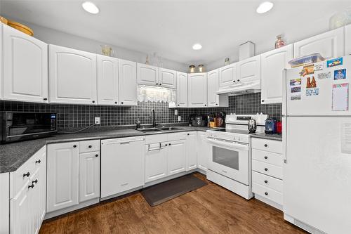
[[[195,174],[206,180],[201,174]],[[45,221],[44,233],[305,233],[283,213],[208,181],[208,185],[150,207],[140,193]]]

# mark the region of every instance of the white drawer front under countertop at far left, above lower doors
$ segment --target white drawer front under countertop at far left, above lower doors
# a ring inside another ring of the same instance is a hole
[[[17,171],[13,171],[10,174],[10,198],[20,192],[23,186],[26,186],[29,178],[32,178],[33,174],[39,168],[39,165],[44,160],[42,157],[45,155],[46,146],[38,150],[32,157],[25,162]]]

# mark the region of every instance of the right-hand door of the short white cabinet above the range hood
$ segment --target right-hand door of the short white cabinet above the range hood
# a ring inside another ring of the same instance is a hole
[[[261,79],[261,57],[253,56],[237,63],[237,80],[233,83],[259,84]]]

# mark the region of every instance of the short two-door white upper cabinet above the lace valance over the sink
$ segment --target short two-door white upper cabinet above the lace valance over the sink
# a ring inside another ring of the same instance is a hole
[[[176,71],[143,63],[137,65],[138,84],[176,89]]]

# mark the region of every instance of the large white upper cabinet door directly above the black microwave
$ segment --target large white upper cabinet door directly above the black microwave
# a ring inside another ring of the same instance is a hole
[[[4,99],[48,103],[48,45],[4,26]]]

